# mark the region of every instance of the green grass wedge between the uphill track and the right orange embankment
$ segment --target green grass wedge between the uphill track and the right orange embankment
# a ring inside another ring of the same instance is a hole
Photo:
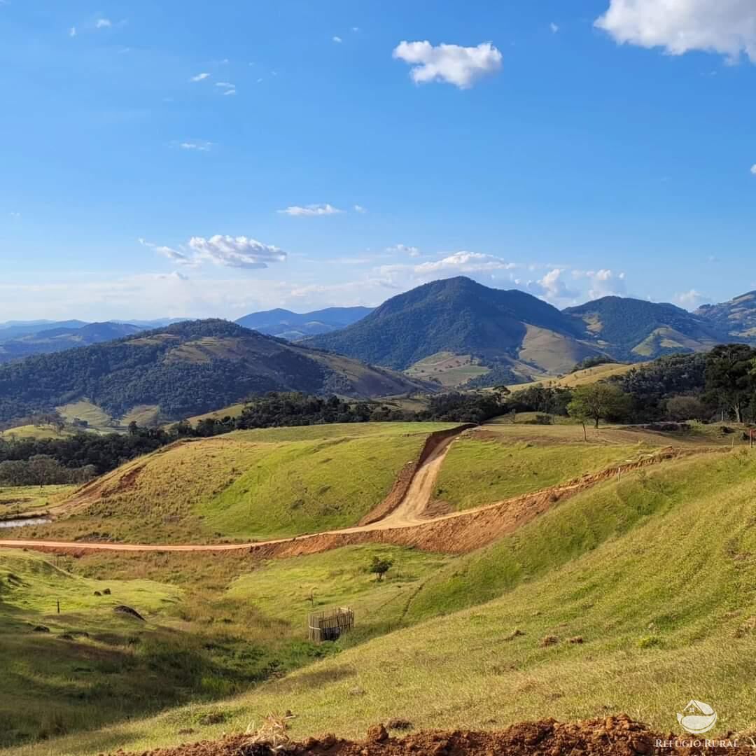
[[[435,498],[455,510],[468,510],[600,472],[648,451],[645,445],[535,445],[460,438],[444,461]]]

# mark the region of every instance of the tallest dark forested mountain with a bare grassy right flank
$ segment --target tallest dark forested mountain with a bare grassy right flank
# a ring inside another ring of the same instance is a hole
[[[600,354],[585,335],[584,324],[537,297],[456,277],[392,297],[358,323],[305,343],[399,370],[441,352],[472,355],[525,378]]]

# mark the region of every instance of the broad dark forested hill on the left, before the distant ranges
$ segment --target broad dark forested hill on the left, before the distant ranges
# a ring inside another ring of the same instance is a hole
[[[169,420],[225,407],[257,392],[367,398],[428,387],[228,321],[188,321],[0,366],[0,421],[83,399],[110,417],[155,407]]]

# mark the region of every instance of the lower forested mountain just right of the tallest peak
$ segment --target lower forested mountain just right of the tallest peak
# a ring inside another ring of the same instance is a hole
[[[605,296],[564,313],[596,346],[615,358],[646,360],[674,352],[700,352],[725,339],[713,321],[670,304]]]

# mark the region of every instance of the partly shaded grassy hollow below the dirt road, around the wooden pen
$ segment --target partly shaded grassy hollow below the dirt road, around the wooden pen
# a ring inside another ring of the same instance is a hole
[[[374,554],[395,563],[381,583],[366,570]],[[0,550],[4,665],[8,660],[0,676],[0,748],[249,689],[336,650],[302,640],[312,587],[316,609],[343,602],[355,609],[354,644],[395,627],[415,585],[446,562],[399,547],[262,565],[240,555],[72,559]],[[101,575],[109,579],[95,577]],[[95,596],[106,588],[110,595]],[[114,614],[120,603],[147,623]],[[38,624],[51,632],[33,632]],[[201,712],[191,717],[193,730],[205,726]]]

